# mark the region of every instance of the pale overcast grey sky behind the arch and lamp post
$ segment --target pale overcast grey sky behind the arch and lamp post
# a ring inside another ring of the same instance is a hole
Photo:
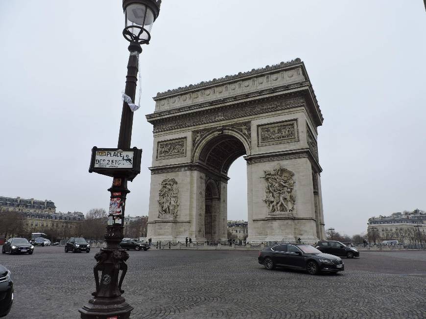
[[[0,1],[0,196],[60,211],[107,208],[91,148],[116,147],[128,43],[120,0]],[[132,146],[142,172],[126,215],[147,215],[152,96],[300,57],[325,121],[326,228],[426,209],[426,13],[422,0],[164,0],[141,55]],[[231,166],[228,219],[247,220],[246,165]],[[243,187],[242,187],[243,186]]]

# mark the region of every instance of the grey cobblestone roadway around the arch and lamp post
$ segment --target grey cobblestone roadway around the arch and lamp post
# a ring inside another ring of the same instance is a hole
[[[94,254],[37,247],[0,254],[15,282],[8,319],[79,318],[94,291]],[[257,251],[129,251],[132,318],[426,318],[426,251],[369,251],[345,271],[267,271]]]

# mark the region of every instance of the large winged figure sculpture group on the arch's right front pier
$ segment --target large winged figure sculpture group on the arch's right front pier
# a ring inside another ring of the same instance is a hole
[[[266,182],[265,199],[269,214],[293,214],[296,204],[294,173],[280,164],[275,169],[263,171]]]

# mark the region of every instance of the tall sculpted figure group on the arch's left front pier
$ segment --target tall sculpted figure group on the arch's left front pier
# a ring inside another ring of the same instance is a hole
[[[158,197],[158,218],[175,218],[179,212],[179,188],[174,178],[161,182]]]

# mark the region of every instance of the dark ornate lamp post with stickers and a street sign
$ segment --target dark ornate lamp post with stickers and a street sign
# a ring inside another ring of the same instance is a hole
[[[142,151],[130,149],[133,126],[133,111],[130,104],[135,102],[138,75],[139,54],[142,44],[149,44],[152,24],[160,13],[161,0],[123,0],[125,27],[123,36],[130,42],[129,62],[127,64],[126,87],[121,113],[120,131],[117,149],[92,150],[89,172],[113,177],[106,248],[95,254],[97,264],[94,267],[96,291],[88,305],[78,311],[81,318],[127,319],[133,310],[121,296],[121,284],[127,272],[125,261],[129,258],[126,251],[119,248],[123,238],[124,208],[126,195],[130,193],[127,181],[132,181],[140,173]],[[114,165],[109,163],[114,161]],[[139,165],[139,167],[138,167]],[[99,280],[99,272],[101,272]]]

